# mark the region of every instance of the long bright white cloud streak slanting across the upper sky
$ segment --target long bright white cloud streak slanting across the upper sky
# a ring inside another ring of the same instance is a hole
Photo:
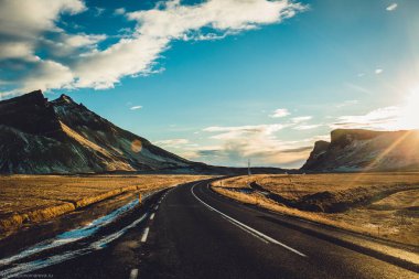
[[[207,40],[200,32],[204,26],[227,34],[236,33],[260,24],[281,22],[300,10],[303,10],[301,4],[289,1],[211,0],[182,6],[180,1],[172,0],[163,9],[129,12],[127,18],[138,22],[132,36],[103,52],[85,55],[75,66],[76,86],[110,88],[122,76],[148,74],[172,40]]]

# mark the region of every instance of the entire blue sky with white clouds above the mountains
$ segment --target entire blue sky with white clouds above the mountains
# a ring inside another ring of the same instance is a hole
[[[184,158],[301,167],[419,128],[417,0],[0,0],[0,99],[42,89]]]

